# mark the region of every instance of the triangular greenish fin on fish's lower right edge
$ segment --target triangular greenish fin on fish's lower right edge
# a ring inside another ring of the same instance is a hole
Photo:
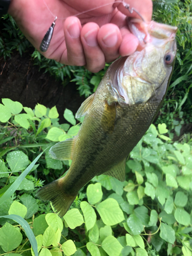
[[[108,172],[105,172],[104,175],[109,175],[117,180],[124,181],[125,180],[125,159],[113,166]]]

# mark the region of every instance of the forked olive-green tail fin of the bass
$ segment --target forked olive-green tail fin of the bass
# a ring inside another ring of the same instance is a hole
[[[59,213],[59,217],[63,217],[68,211],[69,207],[72,205],[76,196],[66,194],[63,189],[65,177],[55,180],[50,184],[41,187],[37,193],[36,197],[43,201],[51,201],[56,212]]]

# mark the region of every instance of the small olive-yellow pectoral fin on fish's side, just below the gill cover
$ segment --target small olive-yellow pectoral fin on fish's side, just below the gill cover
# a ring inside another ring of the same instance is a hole
[[[106,133],[113,133],[115,129],[115,120],[116,120],[116,102],[113,102],[111,105],[105,101],[104,110],[101,117],[102,129]]]

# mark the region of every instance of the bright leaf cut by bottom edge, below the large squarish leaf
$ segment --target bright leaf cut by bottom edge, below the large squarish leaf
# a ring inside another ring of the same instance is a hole
[[[109,256],[119,256],[121,250],[123,249],[119,241],[113,236],[106,237],[102,241],[101,246],[103,250],[109,254]]]

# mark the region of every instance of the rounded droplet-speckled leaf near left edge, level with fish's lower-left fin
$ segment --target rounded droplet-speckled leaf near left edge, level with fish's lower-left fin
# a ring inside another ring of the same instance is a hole
[[[13,151],[7,154],[6,158],[12,172],[24,170],[29,164],[28,156],[22,151]]]

